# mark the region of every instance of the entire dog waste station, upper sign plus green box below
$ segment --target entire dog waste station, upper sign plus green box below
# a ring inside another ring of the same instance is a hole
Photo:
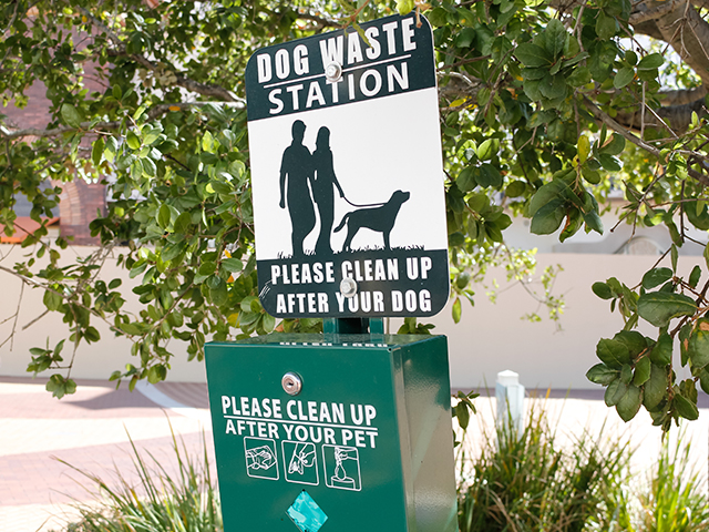
[[[205,347],[226,532],[454,532],[432,33],[415,16],[257,51],[246,70],[260,299],[323,334]]]

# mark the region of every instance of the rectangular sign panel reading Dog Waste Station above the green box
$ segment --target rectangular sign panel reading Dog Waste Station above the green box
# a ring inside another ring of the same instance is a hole
[[[349,29],[265,48],[246,70],[259,290],[274,316],[431,316],[448,300],[431,28],[410,14],[362,29],[368,42]]]

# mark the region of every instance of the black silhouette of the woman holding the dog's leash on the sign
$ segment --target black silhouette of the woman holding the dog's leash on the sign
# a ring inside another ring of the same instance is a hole
[[[345,197],[345,193],[335,175],[332,151],[330,150],[330,130],[327,127],[318,130],[316,151],[312,153],[312,168],[316,175],[312,196],[320,214],[320,235],[315,245],[315,250],[318,254],[332,254],[332,247],[330,246],[330,235],[332,234],[335,219],[335,192],[332,186],[337,186],[340,197]]]

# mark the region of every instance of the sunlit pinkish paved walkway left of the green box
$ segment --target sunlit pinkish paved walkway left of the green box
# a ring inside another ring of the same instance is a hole
[[[213,453],[208,410],[181,407],[156,389],[131,393],[90,381],[58,401],[43,383],[0,377],[0,532],[61,530],[76,514],[73,504],[93,500],[59,460],[105,479],[119,469],[130,479],[127,434],[164,464],[174,462],[171,426],[193,451],[204,431]]]

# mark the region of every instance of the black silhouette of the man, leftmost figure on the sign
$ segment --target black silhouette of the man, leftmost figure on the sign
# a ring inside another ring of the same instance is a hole
[[[302,145],[306,124],[296,120],[291,127],[292,142],[284,151],[280,163],[280,208],[286,208],[292,229],[292,256],[305,256],[302,243],[315,228],[315,208],[310,187],[312,187],[312,161],[310,150]],[[310,183],[310,187],[308,186]],[[287,192],[286,192],[287,191]]]

